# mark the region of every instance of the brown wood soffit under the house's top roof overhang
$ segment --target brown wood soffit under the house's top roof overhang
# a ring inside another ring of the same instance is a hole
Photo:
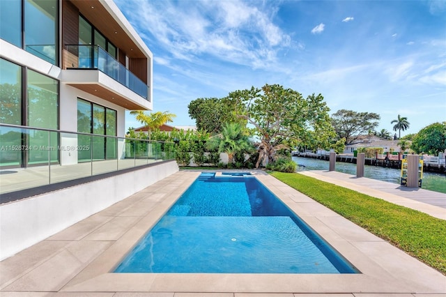
[[[96,29],[104,34],[114,45],[123,50],[130,58],[146,58],[139,47],[125,33],[121,26],[109,15],[98,0],[71,1]],[[91,8],[93,6],[93,8]],[[116,33],[115,33],[116,32]]]

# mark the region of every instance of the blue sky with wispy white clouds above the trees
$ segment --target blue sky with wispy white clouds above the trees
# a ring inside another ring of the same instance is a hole
[[[281,84],[339,109],[446,121],[446,1],[114,0],[154,56],[154,112]],[[139,127],[132,116],[126,128]]]

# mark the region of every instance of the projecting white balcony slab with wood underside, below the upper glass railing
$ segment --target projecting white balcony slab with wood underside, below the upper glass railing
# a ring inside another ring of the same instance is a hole
[[[61,83],[128,110],[152,110],[153,104],[99,70],[62,70]]]

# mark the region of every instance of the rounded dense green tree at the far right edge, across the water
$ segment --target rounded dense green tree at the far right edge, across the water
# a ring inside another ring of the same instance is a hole
[[[438,155],[446,150],[446,121],[443,123],[433,123],[422,128],[413,137],[410,148],[415,153],[427,153]]]

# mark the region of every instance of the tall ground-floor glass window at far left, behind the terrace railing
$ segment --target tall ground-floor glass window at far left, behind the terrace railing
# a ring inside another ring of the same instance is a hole
[[[27,69],[24,73],[25,69],[0,59],[0,122],[59,129],[59,82],[33,70]],[[26,86],[25,93],[22,92],[23,86]],[[57,132],[2,127],[0,143],[8,144],[11,148],[33,148],[0,151],[0,166],[27,166],[59,161],[57,150],[40,149],[57,147]]]

